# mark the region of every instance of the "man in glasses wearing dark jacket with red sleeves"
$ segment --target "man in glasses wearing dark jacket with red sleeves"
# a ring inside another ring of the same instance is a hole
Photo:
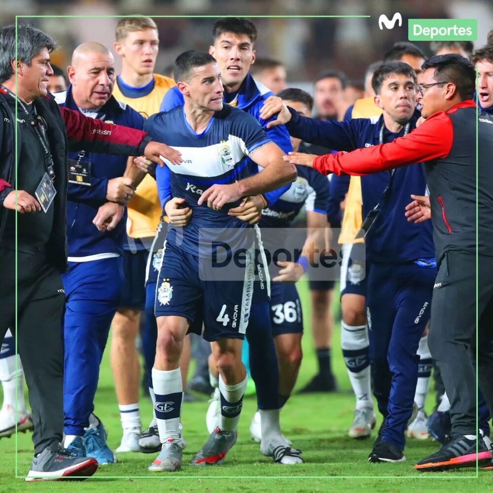
[[[476,461],[482,464],[492,458],[491,451],[478,437],[477,387],[469,349],[472,343],[472,351],[476,350],[477,337],[479,386],[493,410],[493,124],[486,112],[476,116],[477,107],[472,100],[476,73],[468,60],[457,54],[434,56],[422,68],[420,91],[426,120],[409,136],[344,156],[307,159],[299,155],[292,160],[299,162],[301,157],[313,166],[319,159],[315,167],[325,173],[357,174],[396,167],[399,171],[416,160],[426,162],[430,191],[426,202],[439,262],[433,286],[429,346],[449,396],[452,430],[451,439],[435,454],[415,464],[415,468],[436,471],[467,467]],[[480,320],[476,335],[477,314]]]

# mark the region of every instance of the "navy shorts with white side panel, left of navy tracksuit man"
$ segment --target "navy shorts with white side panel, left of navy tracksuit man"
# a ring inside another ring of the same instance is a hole
[[[341,296],[360,294],[366,297],[366,273],[364,243],[345,243],[342,246]]]

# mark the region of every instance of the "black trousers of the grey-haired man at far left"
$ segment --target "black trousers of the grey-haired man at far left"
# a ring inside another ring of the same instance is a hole
[[[33,412],[35,453],[56,450],[63,434],[61,332],[65,302],[60,273],[38,255],[18,252],[17,347]],[[15,327],[15,251],[0,247],[0,341]]]

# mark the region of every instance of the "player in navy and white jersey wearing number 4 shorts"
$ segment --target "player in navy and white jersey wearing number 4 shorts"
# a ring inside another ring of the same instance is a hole
[[[228,211],[242,197],[279,188],[296,176],[294,167],[284,166],[282,150],[252,116],[223,106],[220,71],[211,55],[193,50],[182,53],[176,59],[175,78],[184,106],[154,115],[144,125],[155,139],[183,153],[181,165],[166,162],[166,167],[157,169],[158,190],[171,179],[171,196],[163,196],[160,190],[161,203],[167,213],[182,205],[193,212],[186,226],[169,227],[157,283],[158,339],[152,381],[163,447],[150,471],[181,467],[178,360],[185,334],[194,329],[200,333],[202,320],[203,336],[211,342],[220,374],[221,417],[191,463],[221,463],[236,441],[246,388],[241,346],[253,291],[254,244],[248,223]],[[249,176],[246,156],[264,170]],[[242,251],[241,266],[234,271],[239,273],[238,280],[228,277],[229,270],[214,267],[211,246],[218,238],[235,255]],[[227,280],[219,281],[224,272]]]

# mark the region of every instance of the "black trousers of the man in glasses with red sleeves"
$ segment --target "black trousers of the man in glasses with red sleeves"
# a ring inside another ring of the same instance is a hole
[[[493,411],[493,257],[478,260],[478,380]],[[476,254],[448,251],[438,270],[431,301],[428,346],[450,400],[454,435],[477,435]]]

